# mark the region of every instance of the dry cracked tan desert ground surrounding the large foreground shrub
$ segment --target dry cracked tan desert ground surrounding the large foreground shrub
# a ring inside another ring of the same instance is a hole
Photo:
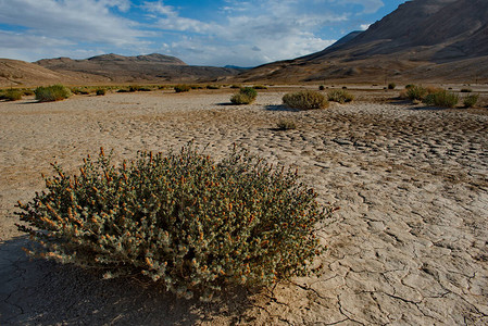
[[[488,110],[378,89],[295,111],[286,91],[245,106],[228,105],[229,90],[0,102],[0,325],[488,325]],[[277,130],[280,118],[297,129]],[[298,167],[340,206],[318,231],[321,276],[201,303],[22,251],[14,205],[42,190],[51,162],[76,173],[100,147],[120,162],[190,140],[215,158],[237,143]]]

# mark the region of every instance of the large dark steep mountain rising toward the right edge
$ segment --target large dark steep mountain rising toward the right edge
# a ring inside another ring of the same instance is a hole
[[[488,1],[408,1],[365,32],[239,79],[488,82]]]

